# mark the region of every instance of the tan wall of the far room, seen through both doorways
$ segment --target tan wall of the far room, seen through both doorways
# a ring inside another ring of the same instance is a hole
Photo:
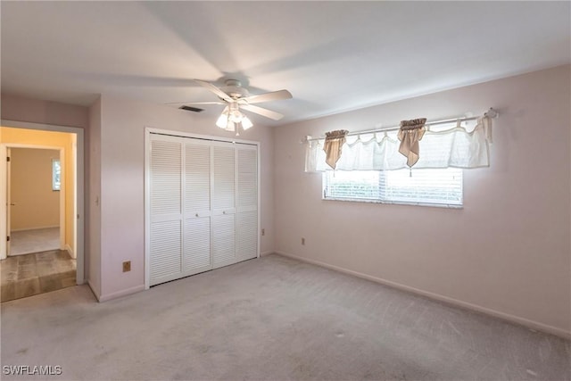
[[[60,192],[52,189],[52,161],[59,158],[56,150],[12,148],[12,231],[60,226]]]

